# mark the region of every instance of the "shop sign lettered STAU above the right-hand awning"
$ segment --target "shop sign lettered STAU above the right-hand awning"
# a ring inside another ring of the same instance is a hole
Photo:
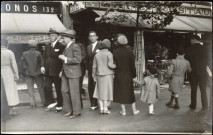
[[[179,13],[181,15],[212,16],[212,10],[210,8],[180,7]]]

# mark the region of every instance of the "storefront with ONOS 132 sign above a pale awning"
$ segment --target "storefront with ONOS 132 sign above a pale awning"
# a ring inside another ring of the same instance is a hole
[[[38,49],[42,51],[42,46],[49,42],[49,28],[59,32],[66,29],[61,17],[60,2],[1,2],[1,36],[8,40],[18,68],[29,40],[37,40]]]

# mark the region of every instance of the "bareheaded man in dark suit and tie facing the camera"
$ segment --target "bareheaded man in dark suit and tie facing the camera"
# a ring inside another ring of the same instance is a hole
[[[95,54],[99,51],[99,42],[98,36],[95,31],[91,31],[89,33],[89,41],[90,45],[87,47],[87,70],[88,70],[88,91],[89,91],[89,97],[91,102],[91,110],[96,110],[98,108],[97,99],[93,98],[93,93],[95,89],[95,82],[92,77],[92,67],[93,67],[93,59]]]

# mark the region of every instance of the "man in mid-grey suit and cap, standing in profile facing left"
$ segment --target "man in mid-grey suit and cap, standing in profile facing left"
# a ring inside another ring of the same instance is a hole
[[[76,32],[66,30],[61,33],[62,42],[66,48],[59,59],[63,61],[63,68],[59,76],[62,79],[61,91],[63,96],[63,107],[67,112],[64,116],[70,119],[81,115],[81,100],[79,81],[81,73],[81,48],[75,43]]]

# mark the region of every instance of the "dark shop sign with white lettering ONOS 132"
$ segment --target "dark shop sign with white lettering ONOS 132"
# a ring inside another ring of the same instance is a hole
[[[1,13],[61,14],[59,2],[1,2]]]

